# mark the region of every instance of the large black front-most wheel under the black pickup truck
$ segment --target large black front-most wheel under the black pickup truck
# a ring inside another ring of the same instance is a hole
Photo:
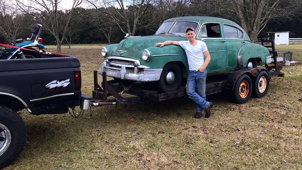
[[[0,169],[13,162],[24,149],[27,130],[22,117],[0,105]]]

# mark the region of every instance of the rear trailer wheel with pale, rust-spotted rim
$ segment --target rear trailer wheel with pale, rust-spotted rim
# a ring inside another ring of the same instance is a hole
[[[261,71],[256,76],[253,82],[253,96],[257,98],[262,98],[266,95],[269,87],[269,77],[267,72]]]

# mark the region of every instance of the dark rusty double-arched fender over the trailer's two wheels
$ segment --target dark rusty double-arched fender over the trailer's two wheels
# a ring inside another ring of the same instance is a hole
[[[258,73],[263,70],[268,73],[268,71],[265,68],[259,68],[259,67],[252,68],[252,69],[240,69],[238,71],[235,71],[228,76],[226,83],[224,85],[224,88],[226,88],[228,90],[234,90],[235,84],[241,75],[247,74],[253,80],[254,77],[256,77],[258,75]]]

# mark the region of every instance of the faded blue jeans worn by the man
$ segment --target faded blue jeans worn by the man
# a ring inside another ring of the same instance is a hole
[[[186,91],[189,98],[191,98],[197,105],[196,111],[202,112],[209,105],[206,101],[206,79],[207,70],[204,72],[200,71],[189,71]],[[195,92],[195,87],[197,86],[197,92]]]

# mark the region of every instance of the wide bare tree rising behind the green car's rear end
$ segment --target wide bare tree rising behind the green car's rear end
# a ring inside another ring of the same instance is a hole
[[[194,0],[215,6],[214,13],[239,21],[252,42],[269,20],[290,19],[300,11],[300,0]]]

